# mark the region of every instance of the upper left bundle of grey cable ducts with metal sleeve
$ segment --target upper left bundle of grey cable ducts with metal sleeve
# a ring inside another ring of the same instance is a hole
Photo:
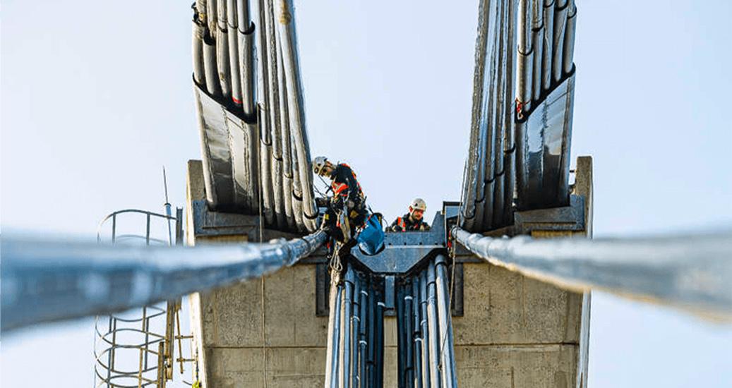
[[[258,29],[247,0],[198,1],[193,10],[194,96],[209,207],[244,214],[261,208],[267,228],[315,231],[291,2],[258,0]]]

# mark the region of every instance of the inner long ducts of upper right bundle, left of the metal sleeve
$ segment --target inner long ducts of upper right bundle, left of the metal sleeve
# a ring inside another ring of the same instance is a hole
[[[479,12],[471,141],[461,210],[463,226],[469,230],[488,230],[510,220],[515,171],[514,62],[517,54],[520,58],[531,50],[525,42],[516,51],[517,25],[511,22],[518,12],[516,1],[481,1]],[[531,8],[523,12],[530,16]],[[521,69],[529,63],[523,61]]]

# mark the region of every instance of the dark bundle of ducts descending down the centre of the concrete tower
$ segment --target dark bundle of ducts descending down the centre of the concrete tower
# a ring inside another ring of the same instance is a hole
[[[447,258],[436,255],[388,292],[384,277],[351,263],[333,272],[324,386],[383,387],[389,309],[397,318],[397,387],[457,387],[447,274]]]

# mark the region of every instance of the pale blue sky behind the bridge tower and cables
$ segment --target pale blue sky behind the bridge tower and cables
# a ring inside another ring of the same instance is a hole
[[[729,228],[732,4],[577,3],[572,155],[594,157],[595,236]],[[459,200],[477,0],[295,4],[313,155],[351,165],[387,218]],[[2,231],[91,239],[116,209],[160,211],[163,165],[182,206],[201,157],[190,1],[4,0],[0,18]],[[91,325],[3,338],[0,385],[91,386]],[[591,388],[730,387],[731,349],[729,325],[593,295]]]

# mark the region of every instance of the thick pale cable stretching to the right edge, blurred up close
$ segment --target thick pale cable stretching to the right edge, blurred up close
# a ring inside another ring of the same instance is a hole
[[[732,230],[642,238],[493,238],[455,226],[491,264],[572,291],[597,289],[732,319]]]

